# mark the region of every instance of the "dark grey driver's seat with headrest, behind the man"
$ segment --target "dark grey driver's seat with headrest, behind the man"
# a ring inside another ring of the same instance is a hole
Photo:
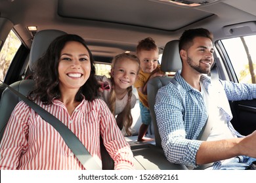
[[[163,50],[163,56],[161,59],[161,70],[164,72],[176,72],[182,67],[181,58],[179,55],[179,41],[173,40],[167,42]],[[154,127],[154,135],[156,146],[161,147],[161,137],[158,131],[158,124],[156,122],[156,113],[154,111],[154,105],[156,103],[156,93],[162,87],[168,84],[173,76],[156,77],[148,81],[148,105],[150,108],[150,114],[152,117],[152,124]]]

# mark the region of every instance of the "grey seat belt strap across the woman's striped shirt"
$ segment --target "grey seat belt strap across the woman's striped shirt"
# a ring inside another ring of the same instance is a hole
[[[60,122],[60,120],[53,116],[53,114],[49,113],[47,110],[45,110],[44,108],[40,107],[24,95],[22,95],[22,93],[17,92],[8,84],[5,84],[4,82],[2,83],[5,86],[7,86],[7,88],[9,88],[9,90],[11,90],[12,93],[18,95],[18,97],[20,97],[20,99],[22,99],[22,101],[24,101],[29,107],[35,110],[35,112],[37,112],[37,114],[39,114],[41,118],[45,120],[45,122],[51,124],[54,127],[54,129],[56,129],[56,131],[60,133],[60,136],[66,142],[68,148],[72,150],[76,158],[81,162],[85,169],[101,170],[100,166],[98,165],[98,163],[96,163],[93,156],[91,156],[91,154],[88,152],[87,148],[85,148],[82,142],[66,125]]]

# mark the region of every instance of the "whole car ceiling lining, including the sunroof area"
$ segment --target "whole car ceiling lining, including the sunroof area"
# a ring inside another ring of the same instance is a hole
[[[127,50],[134,53],[138,42],[146,37],[152,37],[163,48],[191,27],[211,30],[216,35],[215,40],[227,37],[224,26],[255,21],[253,7],[256,7],[256,1],[249,1],[249,4],[246,1],[249,0],[226,0],[197,8],[182,8],[150,0],[121,1],[121,4],[117,0],[87,0],[86,7],[76,4],[81,2],[79,0],[0,0],[0,12],[1,17],[8,17],[14,24],[14,30],[28,48],[33,37],[26,27],[35,25],[38,31],[60,29],[80,35],[88,42],[93,55],[108,58]],[[69,7],[71,4],[74,4],[72,8]],[[140,14],[135,13],[139,9]],[[151,11],[154,13],[150,16],[143,13]],[[120,12],[123,14],[117,15]]]

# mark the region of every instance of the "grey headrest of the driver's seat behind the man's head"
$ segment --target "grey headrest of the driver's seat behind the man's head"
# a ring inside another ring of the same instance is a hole
[[[176,72],[182,68],[179,54],[179,40],[173,40],[165,44],[161,58],[161,70],[164,72]]]

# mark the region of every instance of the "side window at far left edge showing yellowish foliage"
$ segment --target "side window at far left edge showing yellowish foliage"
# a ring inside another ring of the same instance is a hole
[[[5,75],[9,69],[12,59],[14,58],[18,48],[21,45],[20,39],[13,31],[10,31],[5,44],[0,52],[0,79],[4,80]]]

